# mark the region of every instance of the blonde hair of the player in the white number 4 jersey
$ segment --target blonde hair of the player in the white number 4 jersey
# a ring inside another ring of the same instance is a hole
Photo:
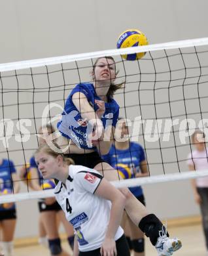
[[[58,146],[58,144],[56,144],[54,142],[53,142],[53,144],[54,144],[54,147],[60,149],[60,150],[58,150],[59,152],[52,150],[52,148],[50,148],[50,146],[47,143],[45,143],[45,144],[39,146],[39,148],[35,152],[35,155],[43,152],[45,154],[48,154],[49,156],[52,156],[53,158],[57,158],[58,156],[61,156],[63,158],[63,162],[66,163],[67,165],[75,164],[75,162],[71,158],[66,158],[64,156],[64,154],[61,152],[61,148],[60,148],[60,146]]]

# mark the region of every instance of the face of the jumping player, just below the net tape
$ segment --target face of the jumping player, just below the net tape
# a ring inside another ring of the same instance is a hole
[[[95,81],[112,83],[116,78],[116,65],[111,58],[99,58],[94,69]]]

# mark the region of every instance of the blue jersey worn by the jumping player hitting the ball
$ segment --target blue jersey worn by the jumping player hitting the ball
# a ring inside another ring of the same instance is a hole
[[[77,108],[73,104],[72,96],[75,93],[83,93],[88,102],[97,111],[98,107],[95,104],[95,100],[101,100],[97,96],[94,85],[92,83],[80,83],[78,84],[68,96],[65,102],[65,108],[62,113],[61,121],[57,127],[64,137],[73,140],[79,148],[95,149],[95,146],[90,146],[88,143],[87,127],[88,123],[84,121],[78,112]],[[116,127],[118,121],[119,106],[113,98],[108,98],[108,102],[105,102],[105,113],[101,117],[103,127],[113,125]],[[92,131],[92,130],[91,130]]]

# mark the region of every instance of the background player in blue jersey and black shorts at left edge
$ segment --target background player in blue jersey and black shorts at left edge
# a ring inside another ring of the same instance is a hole
[[[14,163],[7,159],[0,160],[0,194],[16,194],[20,190]],[[14,203],[0,205],[0,232],[3,255],[14,256],[13,240],[16,227],[16,206]]]

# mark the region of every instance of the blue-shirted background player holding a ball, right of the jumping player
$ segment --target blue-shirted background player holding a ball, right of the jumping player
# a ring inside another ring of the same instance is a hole
[[[116,135],[118,135],[118,140],[116,140]],[[103,156],[103,160],[107,161],[115,169],[118,169],[118,172],[124,179],[147,177],[149,175],[143,147],[138,143],[130,142],[128,125],[123,118],[118,119],[115,140],[109,153]],[[145,197],[141,186],[135,186],[129,189],[135,198],[145,205]],[[132,223],[125,211],[122,219],[122,227],[124,228],[130,249],[134,251],[133,255],[144,256],[144,234]]]

